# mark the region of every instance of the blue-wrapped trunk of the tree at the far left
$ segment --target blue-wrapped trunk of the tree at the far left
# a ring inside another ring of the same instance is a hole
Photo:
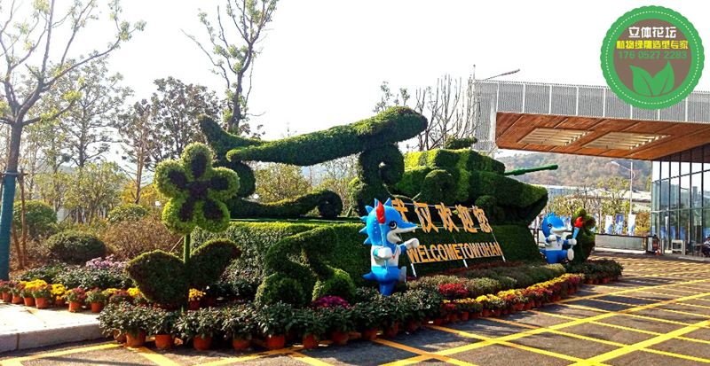
[[[17,167],[20,161],[21,121],[16,121],[10,133],[10,156],[3,176],[3,201],[0,207],[0,279],[10,279],[10,236],[12,231],[12,205],[15,200]]]

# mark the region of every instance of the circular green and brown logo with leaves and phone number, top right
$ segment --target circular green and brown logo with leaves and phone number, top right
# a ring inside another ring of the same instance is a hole
[[[659,109],[695,89],[705,53],[688,19],[661,6],[643,6],[614,22],[604,37],[601,59],[604,78],[621,100]]]

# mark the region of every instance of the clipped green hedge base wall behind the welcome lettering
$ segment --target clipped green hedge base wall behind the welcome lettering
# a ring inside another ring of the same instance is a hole
[[[370,271],[370,245],[362,244],[367,236],[359,233],[359,230],[363,228],[363,224],[360,223],[232,222],[229,229],[220,234],[212,234],[198,229],[194,231],[192,238],[195,247],[209,239],[228,238],[236,243],[242,251],[241,257],[233,263],[233,267],[243,269],[245,272],[253,273],[257,276],[270,276],[273,272],[266,269],[264,263],[266,261],[266,253],[271,245],[281,239],[322,226],[330,226],[335,229],[334,243],[319,243],[324,248],[326,245],[331,246],[331,252],[324,256],[323,261],[330,267],[343,269],[349,273],[357,286],[375,285],[362,278],[363,275]],[[542,261],[533,235],[527,228],[514,225],[493,226],[493,234],[498,239],[506,260]],[[430,233],[418,231],[414,234],[403,235],[403,239],[406,240],[408,238],[419,238],[422,245],[475,243],[493,240],[491,234],[451,233],[446,230],[439,230],[438,233],[434,231]],[[290,259],[305,263],[304,258],[300,255],[293,255]],[[500,260],[500,257],[467,262],[476,263],[497,260]],[[400,257],[399,263],[400,266],[409,267],[409,260],[406,255]],[[462,267],[463,263],[462,261],[447,261],[417,264],[415,266],[417,275],[424,276],[450,268]],[[408,271],[411,275],[411,268]]]

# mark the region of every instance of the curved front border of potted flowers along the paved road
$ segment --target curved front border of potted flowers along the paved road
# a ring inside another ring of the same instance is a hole
[[[352,332],[359,332],[363,339],[391,337],[422,325],[538,308],[576,292],[584,278],[583,274],[564,274],[522,289],[475,297],[461,284],[414,288],[389,297],[360,288],[357,302],[352,305],[330,296],[312,301],[307,308],[293,308],[281,302],[263,307],[234,302],[225,308],[170,312],[126,301],[108,305],[99,321],[106,334],[114,334],[117,339],[123,334],[129,336],[128,340],[161,336],[169,339],[170,347],[175,338],[183,343],[192,341],[197,349],[209,348],[212,339],[232,339],[235,349],[244,349],[252,339],[260,338],[266,347],[276,349],[284,347],[289,335],[297,336],[296,343],[304,347],[317,347],[324,339],[343,344]]]

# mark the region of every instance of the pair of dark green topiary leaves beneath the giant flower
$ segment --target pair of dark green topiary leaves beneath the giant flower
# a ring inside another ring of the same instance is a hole
[[[240,255],[241,250],[232,241],[217,239],[193,251],[187,265],[175,255],[154,251],[130,261],[126,271],[146,299],[165,308],[177,308],[187,302],[191,288],[216,283]]]

